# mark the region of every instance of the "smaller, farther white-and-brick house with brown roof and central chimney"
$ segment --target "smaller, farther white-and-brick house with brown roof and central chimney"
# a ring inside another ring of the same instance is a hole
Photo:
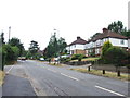
[[[66,49],[69,54],[86,54],[86,44],[87,40],[78,36],[77,39],[69,44]]]

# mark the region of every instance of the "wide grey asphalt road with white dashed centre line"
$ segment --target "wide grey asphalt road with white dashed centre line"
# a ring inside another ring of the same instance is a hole
[[[37,96],[128,96],[128,82],[80,73],[39,61],[18,61],[17,65],[5,66],[5,71],[10,75],[27,78]]]

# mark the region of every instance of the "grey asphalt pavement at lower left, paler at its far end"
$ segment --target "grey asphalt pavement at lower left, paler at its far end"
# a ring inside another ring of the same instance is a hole
[[[18,64],[5,68],[6,75],[2,86],[2,96],[36,96],[26,73]]]

